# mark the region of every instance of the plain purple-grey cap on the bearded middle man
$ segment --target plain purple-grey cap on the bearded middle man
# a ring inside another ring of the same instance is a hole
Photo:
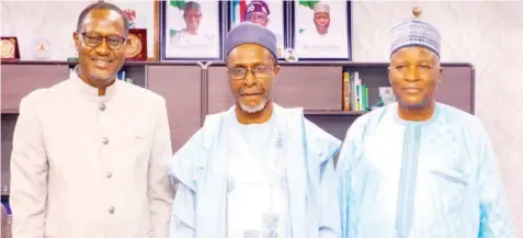
[[[232,27],[225,38],[225,55],[239,45],[257,44],[269,49],[277,61],[276,36],[271,30],[252,22],[241,22]]]

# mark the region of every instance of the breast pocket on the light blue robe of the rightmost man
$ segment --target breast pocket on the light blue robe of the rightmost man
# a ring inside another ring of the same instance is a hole
[[[462,207],[469,177],[462,170],[453,168],[432,168],[429,172],[435,184],[436,197],[445,212],[452,213]]]

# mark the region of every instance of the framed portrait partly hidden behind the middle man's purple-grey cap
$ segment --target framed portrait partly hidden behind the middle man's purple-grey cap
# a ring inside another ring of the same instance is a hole
[[[271,30],[276,35],[278,58],[284,58],[288,45],[288,4],[285,0],[229,0],[228,30],[240,22],[250,21]]]

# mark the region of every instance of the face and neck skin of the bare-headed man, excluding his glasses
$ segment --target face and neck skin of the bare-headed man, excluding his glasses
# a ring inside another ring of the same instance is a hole
[[[73,34],[75,45],[78,48],[79,76],[88,84],[99,89],[99,95],[105,95],[105,89],[116,80],[117,72],[125,61],[125,48],[114,50],[109,47],[106,38],[95,47],[84,44],[81,33],[93,32],[102,36],[120,35],[125,37],[124,19],[116,11],[94,9],[90,11],[80,32]],[[96,60],[103,64],[96,64]]]

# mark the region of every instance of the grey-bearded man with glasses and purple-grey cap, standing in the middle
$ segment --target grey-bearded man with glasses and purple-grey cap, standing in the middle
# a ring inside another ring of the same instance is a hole
[[[171,238],[340,237],[341,141],[271,101],[276,37],[245,22],[225,41],[237,102],[208,115],[170,162]]]

